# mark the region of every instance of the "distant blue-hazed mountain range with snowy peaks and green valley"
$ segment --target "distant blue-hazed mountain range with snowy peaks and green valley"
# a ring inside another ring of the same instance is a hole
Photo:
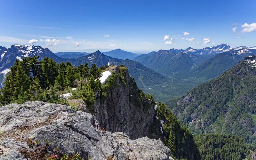
[[[76,67],[84,63],[88,63],[89,67],[93,63],[96,63],[97,67],[124,64],[140,88],[147,94],[153,94],[158,101],[167,101],[221,75],[245,56],[255,54],[255,48],[245,46],[231,48],[227,44],[220,44],[203,49],[188,47],[185,50],[159,50],[137,56],[138,54],[121,49],[103,53],[97,51],[90,54],[85,52],[58,52],[54,54],[49,49],[40,46],[12,45],[9,49],[2,47],[0,50],[0,82],[3,82],[4,75],[8,73],[10,66],[16,59],[21,60],[22,57],[33,55],[39,55],[39,60],[50,57],[58,63],[69,61]],[[132,58],[136,55],[137,57],[133,60],[137,62],[113,58],[106,54]]]

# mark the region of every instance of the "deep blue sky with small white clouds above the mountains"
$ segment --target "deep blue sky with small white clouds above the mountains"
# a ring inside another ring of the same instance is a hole
[[[52,52],[256,45],[255,0],[2,0],[0,6],[0,46],[6,48],[30,40]]]

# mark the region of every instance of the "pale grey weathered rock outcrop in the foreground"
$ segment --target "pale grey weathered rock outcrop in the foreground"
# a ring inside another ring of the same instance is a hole
[[[0,107],[0,131],[1,160],[45,159],[46,153],[60,152],[80,153],[86,160],[168,160],[171,154],[161,141],[111,134],[92,114],[40,101]]]

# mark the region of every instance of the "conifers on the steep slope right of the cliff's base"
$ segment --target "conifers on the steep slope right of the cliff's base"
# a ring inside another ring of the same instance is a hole
[[[156,108],[159,120],[164,121],[165,144],[172,151],[172,156],[188,160],[199,160],[199,152],[196,148],[192,134],[177,120],[171,110],[164,103],[159,102]]]

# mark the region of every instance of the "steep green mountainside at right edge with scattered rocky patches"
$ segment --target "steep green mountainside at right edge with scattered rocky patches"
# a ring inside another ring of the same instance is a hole
[[[168,101],[167,106],[194,135],[233,134],[255,148],[255,60],[254,55],[244,58],[221,76]]]

